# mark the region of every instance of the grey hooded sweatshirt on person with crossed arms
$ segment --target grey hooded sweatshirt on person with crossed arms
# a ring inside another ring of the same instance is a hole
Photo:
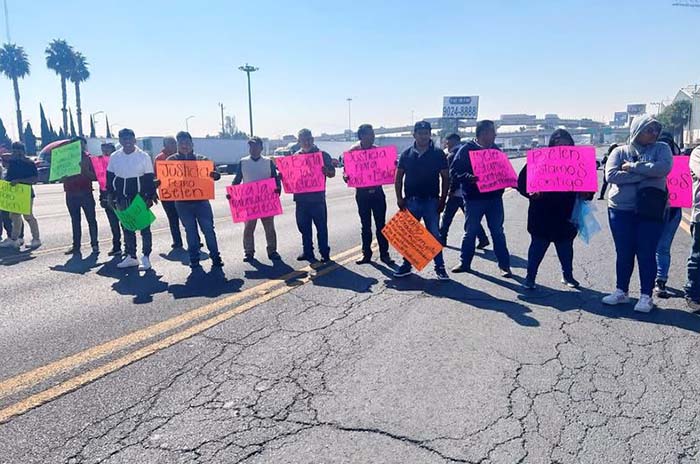
[[[637,191],[646,187],[666,190],[666,176],[673,167],[673,155],[668,145],[655,142],[642,146],[636,142],[650,124],[660,123],[645,114],[635,118],[630,126],[630,143],[617,147],[605,163],[605,177],[610,184],[608,207],[636,211]],[[622,165],[629,163],[629,171]]]

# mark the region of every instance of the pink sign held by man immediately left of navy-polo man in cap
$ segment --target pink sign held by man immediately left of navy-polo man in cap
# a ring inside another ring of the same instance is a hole
[[[396,147],[378,147],[343,153],[349,187],[393,184],[396,177]]]

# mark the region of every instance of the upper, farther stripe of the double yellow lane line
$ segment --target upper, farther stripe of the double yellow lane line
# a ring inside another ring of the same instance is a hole
[[[334,256],[333,260],[335,261],[338,259],[343,259],[348,255],[357,253],[360,249],[361,247],[357,246],[346,250]],[[171,319],[167,319],[165,321],[153,324],[143,329],[136,330],[134,332],[108,341],[101,345],[97,345],[95,347],[68,356],[66,358],[51,362],[36,369],[32,369],[31,371],[27,371],[15,377],[4,380],[0,382],[0,398],[4,398],[18,391],[29,388],[40,382],[48,380],[60,373],[67,372],[83,364],[95,361],[118,350],[124,349],[126,347],[135,345],[137,343],[161,335],[165,332],[168,332],[184,324],[187,324],[188,322],[194,321],[203,316],[211,314],[214,311],[222,309],[238,301],[244,300],[248,297],[264,294],[274,287],[285,286],[286,282],[288,282],[289,280],[303,276],[306,273],[310,272],[312,269],[313,268],[311,266],[306,266],[298,271],[293,271],[282,277],[279,277],[278,279],[265,282],[263,284],[244,290],[240,293],[236,293],[234,295],[222,298],[210,304],[180,314],[179,316],[175,316]]]

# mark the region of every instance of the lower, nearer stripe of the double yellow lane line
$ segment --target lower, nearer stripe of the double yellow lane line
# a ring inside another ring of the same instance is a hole
[[[348,250],[350,251],[350,250]],[[348,254],[346,251],[344,253],[345,255]],[[245,311],[248,311],[251,308],[254,308],[262,303],[265,303],[267,301],[272,300],[273,298],[276,298],[280,295],[283,295],[284,293],[292,291],[294,288],[296,288],[299,285],[304,285],[318,277],[321,277],[325,274],[328,274],[329,272],[332,272],[336,269],[338,269],[340,266],[347,264],[351,262],[352,260],[356,259],[359,257],[359,254],[355,256],[351,256],[342,262],[338,262],[336,264],[329,265],[327,268],[320,269],[315,275],[313,276],[307,276],[303,279],[300,279],[297,285],[294,286],[282,286],[278,289],[275,289],[271,291],[270,293],[260,296],[256,298],[255,300],[249,301],[247,303],[244,303],[240,306],[236,306],[235,308],[232,308],[226,312],[223,312],[217,316],[214,316],[210,319],[207,319],[205,321],[202,321],[198,324],[193,325],[192,327],[189,327],[181,332],[175,333],[173,335],[170,335],[162,340],[159,340],[157,342],[151,343],[150,345],[147,345],[143,348],[140,348],[136,351],[133,351],[121,358],[115,359],[114,361],[108,362],[107,364],[104,364],[102,366],[99,366],[95,369],[92,369],[90,371],[87,371],[83,374],[80,374],[76,377],[73,377],[59,385],[56,385],[54,387],[51,387],[47,390],[44,390],[40,393],[34,394],[22,401],[19,401],[11,406],[8,406],[4,409],[0,409],[0,424],[3,422],[8,421],[14,416],[24,414],[25,412],[29,411],[30,409],[36,408],[37,406],[41,406],[42,404],[45,404],[49,401],[52,401],[59,396],[62,396],[66,393],[69,393],[71,391],[74,391],[83,385],[93,382],[101,377],[104,377],[107,374],[110,374],[112,372],[115,372],[125,366],[128,366],[129,364],[132,364],[136,361],[139,361],[143,358],[146,358],[154,353],[157,353],[158,351],[161,351],[165,348],[168,348],[178,342],[181,342],[183,340],[186,340],[194,335],[200,334],[204,332],[205,330],[208,330],[212,327],[214,327],[217,324],[220,324],[228,319],[231,319],[232,317],[241,314]]]

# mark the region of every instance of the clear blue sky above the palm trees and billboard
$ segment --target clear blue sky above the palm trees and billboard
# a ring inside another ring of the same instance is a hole
[[[86,55],[84,114],[106,111],[137,136],[216,133],[218,102],[248,130],[253,74],[257,135],[309,127],[408,124],[441,113],[444,95],[479,95],[480,117],[558,113],[611,118],[628,103],[672,98],[700,83],[700,8],[671,0],[581,1],[94,1],[8,0],[12,40],[32,74],[24,119],[39,102],[60,124],[58,77],[44,49],[66,39]],[[4,24],[2,39],[5,40]],[[70,106],[75,106],[72,89]],[[14,133],[14,99],[0,80],[0,117]],[[104,132],[98,115],[98,134]],[[86,125],[87,126],[87,125]]]

